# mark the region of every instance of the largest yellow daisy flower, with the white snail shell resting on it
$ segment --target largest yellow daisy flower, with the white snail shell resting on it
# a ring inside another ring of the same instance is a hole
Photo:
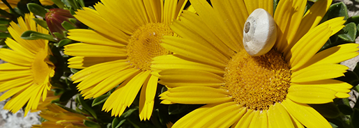
[[[153,58],[153,70],[169,89],[162,104],[206,104],[173,127],[331,127],[307,104],[349,97],[351,85],[333,78],[348,69],[337,63],[358,55],[357,44],[319,51],[344,24],[343,17],[319,24],[331,0],[304,14],[306,0],[280,1],[277,41],[263,56],[247,54],[243,26],[256,8],[273,15],[266,0],[190,0],[198,15],[184,11],[162,47],[173,55]],[[304,16],[303,16],[304,15]],[[319,25],[318,25],[319,24]]]

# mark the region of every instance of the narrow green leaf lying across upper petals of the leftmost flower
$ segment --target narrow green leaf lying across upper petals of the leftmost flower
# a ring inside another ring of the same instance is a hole
[[[25,40],[38,40],[38,39],[44,39],[44,40],[50,40],[50,41],[56,41],[52,35],[47,35],[44,33],[39,33],[37,31],[25,31],[21,35],[22,39]]]

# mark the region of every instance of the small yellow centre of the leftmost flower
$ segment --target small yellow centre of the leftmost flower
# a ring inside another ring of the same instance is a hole
[[[47,83],[49,77],[52,77],[54,71],[54,65],[47,60],[47,51],[40,50],[36,54],[35,59],[31,66],[31,71],[33,72],[33,84],[42,85]]]

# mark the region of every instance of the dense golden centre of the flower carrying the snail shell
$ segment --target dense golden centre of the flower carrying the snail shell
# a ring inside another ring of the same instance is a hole
[[[267,110],[286,98],[291,71],[282,54],[273,49],[263,56],[250,56],[243,50],[229,61],[224,81],[235,102],[248,109]]]

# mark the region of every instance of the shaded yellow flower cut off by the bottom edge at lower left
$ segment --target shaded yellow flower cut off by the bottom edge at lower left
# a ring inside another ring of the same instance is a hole
[[[39,115],[47,121],[41,125],[33,125],[33,128],[85,128],[84,120],[89,120],[84,115],[66,111],[56,104],[49,104]]]

